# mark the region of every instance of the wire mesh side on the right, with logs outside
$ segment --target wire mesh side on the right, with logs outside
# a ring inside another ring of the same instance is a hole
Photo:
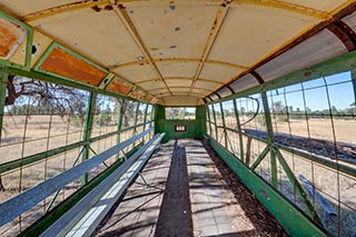
[[[211,138],[333,236],[355,236],[355,85],[343,72],[217,102],[207,127],[215,112]]]

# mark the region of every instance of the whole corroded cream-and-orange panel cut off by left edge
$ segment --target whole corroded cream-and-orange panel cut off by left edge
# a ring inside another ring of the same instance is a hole
[[[24,41],[27,31],[0,17],[0,58],[10,59]]]

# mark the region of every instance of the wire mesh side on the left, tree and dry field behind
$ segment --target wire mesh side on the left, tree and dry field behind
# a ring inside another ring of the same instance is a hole
[[[91,100],[88,91],[11,77],[8,88],[16,95],[7,90],[1,115],[1,203],[154,126],[151,105],[103,95]],[[152,132],[126,152],[150,137]],[[125,157],[118,154],[90,170],[87,181]],[[83,185],[82,179],[67,185],[0,227],[0,235],[20,234]]]

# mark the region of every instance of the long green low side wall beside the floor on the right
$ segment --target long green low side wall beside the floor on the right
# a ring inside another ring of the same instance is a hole
[[[258,198],[258,200],[276,217],[285,230],[291,236],[327,236],[308,217],[297,210],[297,208],[280,196],[271,186],[259,178],[247,168],[219,142],[210,139],[210,145],[243,180],[246,187]]]

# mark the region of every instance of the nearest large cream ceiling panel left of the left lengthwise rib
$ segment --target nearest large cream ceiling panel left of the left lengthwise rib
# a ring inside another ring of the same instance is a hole
[[[137,61],[142,56],[113,10],[73,10],[30,24],[103,67]]]

